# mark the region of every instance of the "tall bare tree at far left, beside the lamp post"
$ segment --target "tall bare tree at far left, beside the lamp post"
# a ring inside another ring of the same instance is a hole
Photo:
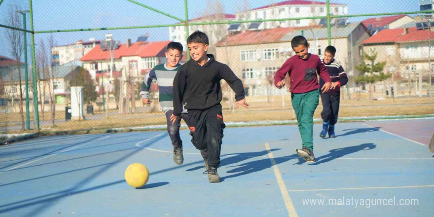
[[[12,5],[9,7],[8,11],[8,25],[11,27],[22,28],[22,20],[21,16],[17,13],[20,9],[18,5]],[[21,116],[21,127],[22,130],[25,130],[24,125],[24,109],[23,109],[23,88],[21,84],[21,72],[20,72],[20,63],[21,63],[21,55],[23,53],[23,33],[18,30],[7,29],[6,31],[7,39],[11,48],[11,55],[15,58],[15,68],[18,72],[18,81],[19,81],[19,94],[20,94],[20,116]]]

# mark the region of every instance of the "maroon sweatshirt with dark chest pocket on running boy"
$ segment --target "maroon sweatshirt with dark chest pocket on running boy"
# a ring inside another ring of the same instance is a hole
[[[315,54],[309,54],[306,60],[298,58],[297,55],[289,58],[276,72],[274,85],[283,80],[287,73],[291,79],[289,86],[291,93],[307,93],[320,88],[317,73],[325,82],[331,82],[327,68],[321,62],[320,57]]]

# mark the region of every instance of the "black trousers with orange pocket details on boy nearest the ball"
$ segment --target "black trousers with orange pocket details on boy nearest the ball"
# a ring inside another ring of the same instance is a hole
[[[218,167],[220,164],[221,139],[223,138],[223,115],[221,105],[204,109],[188,109],[191,143],[207,159],[208,165]]]

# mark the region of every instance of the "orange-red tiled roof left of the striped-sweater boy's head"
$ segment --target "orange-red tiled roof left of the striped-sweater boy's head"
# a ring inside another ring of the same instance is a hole
[[[150,41],[150,42],[136,42],[127,47],[127,44],[121,44],[114,52],[114,59],[120,59],[127,56],[139,57],[156,57],[161,55],[170,41]],[[86,55],[80,58],[80,61],[95,61],[95,60],[108,60],[109,51],[102,50],[101,46],[96,46],[90,50]]]

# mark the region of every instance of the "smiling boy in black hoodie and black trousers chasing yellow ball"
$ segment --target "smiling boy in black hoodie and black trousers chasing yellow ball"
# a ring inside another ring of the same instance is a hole
[[[244,98],[241,80],[225,64],[207,55],[208,36],[196,31],[187,38],[191,59],[177,72],[173,85],[174,112],[171,120],[188,110],[191,142],[200,150],[205,160],[209,182],[220,182],[217,167],[220,164],[220,147],[223,138],[220,80],[224,79],[235,92],[236,105],[249,108]]]

